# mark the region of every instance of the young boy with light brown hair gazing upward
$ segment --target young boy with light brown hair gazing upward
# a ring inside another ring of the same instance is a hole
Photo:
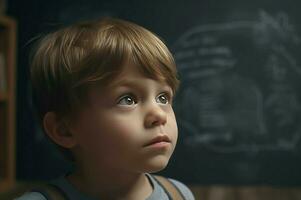
[[[46,135],[76,168],[51,183],[66,199],[167,200],[150,173],[175,149],[174,59],[154,33],[106,18],[46,35],[32,58],[33,100]],[[168,178],[183,199],[194,196]],[[45,200],[41,191],[18,200]]]

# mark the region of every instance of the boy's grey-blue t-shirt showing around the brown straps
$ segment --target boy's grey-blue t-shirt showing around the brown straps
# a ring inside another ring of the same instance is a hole
[[[152,177],[151,174],[145,173],[148,179],[150,180],[153,186],[153,192],[146,200],[169,200],[167,194],[165,193],[164,189],[157,183],[157,181]],[[95,200],[86,194],[81,193],[78,191],[65,177],[66,175],[62,175],[52,181],[50,183],[55,184],[61,190],[65,192],[67,197],[71,200]],[[176,185],[176,187],[181,191],[185,200],[195,200],[191,190],[184,185],[182,182],[168,178],[172,183]],[[16,198],[15,200],[47,200],[41,193],[39,192],[27,192],[24,193],[22,196]]]

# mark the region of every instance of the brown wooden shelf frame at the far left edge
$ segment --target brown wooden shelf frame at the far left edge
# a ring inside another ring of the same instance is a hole
[[[0,191],[7,190],[14,185],[16,174],[16,155],[15,155],[15,126],[16,126],[16,105],[15,105],[15,92],[16,92],[16,29],[17,23],[14,18],[0,15],[0,30],[7,31],[7,89],[0,92],[0,104],[5,109],[5,169],[0,177]],[[7,119],[6,119],[7,117]],[[0,130],[1,132],[2,130]],[[1,169],[2,170],[2,169]],[[1,198],[0,198],[1,199]]]

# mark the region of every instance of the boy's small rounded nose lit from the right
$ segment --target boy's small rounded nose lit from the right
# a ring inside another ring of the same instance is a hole
[[[165,125],[166,121],[166,112],[157,103],[151,104],[145,117],[145,127],[151,128],[154,126]]]

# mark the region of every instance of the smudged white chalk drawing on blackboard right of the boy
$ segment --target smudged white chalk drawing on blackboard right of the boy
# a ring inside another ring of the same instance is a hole
[[[286,13],[205,24],[172,46],[184,143],[213,151],[293,150],[301,137],[300,37]]]

